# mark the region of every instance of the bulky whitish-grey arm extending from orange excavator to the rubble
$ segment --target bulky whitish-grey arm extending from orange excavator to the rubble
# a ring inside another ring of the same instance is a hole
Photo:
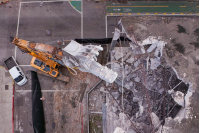
[[[117,73],[97,62],[96,56],[98,56],[99,51],[102,50],[103,48],[101,46],[83,46],[71,40],[63,49],[62,62],[66,67],[73,70],[74,75],[77,75],[77,72],[72,67],[77,67],[82,72],[92,73],[106,82],[112,83],[117,78]]]

